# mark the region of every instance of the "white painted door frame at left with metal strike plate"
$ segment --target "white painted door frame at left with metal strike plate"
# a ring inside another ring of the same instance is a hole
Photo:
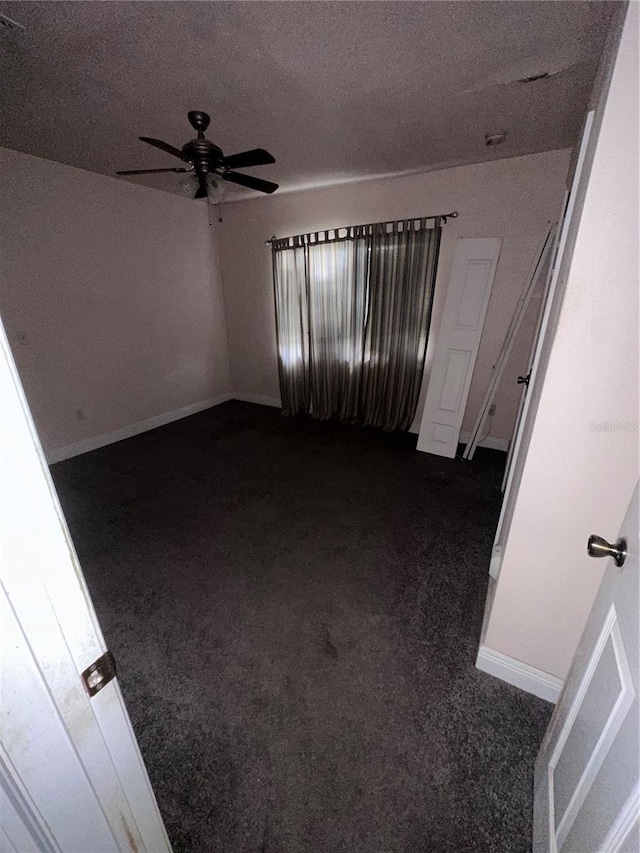
[[[0,851],[171,850],[0,325]]]

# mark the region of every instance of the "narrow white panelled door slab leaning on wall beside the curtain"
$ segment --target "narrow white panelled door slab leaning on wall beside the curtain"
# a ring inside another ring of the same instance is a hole
[[[457,244],[424,404],[418,450],[456,455],[502,239]]]

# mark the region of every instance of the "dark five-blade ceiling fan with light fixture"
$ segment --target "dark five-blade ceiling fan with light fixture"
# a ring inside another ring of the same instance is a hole
[[[208,195],[208,178],[209,176],[219,175],[225,181],[231,181],[234,184],[240,184],[243,187],[249,187],[252,190],[259,190],[263,193],[272,193],[278,189],[278,184],[273,184],[271,181],[263,181],[260,178],[254,178],[251,175],[243,175],[240,172],[234,172],[233,169],[247,168],[249,166],[263,166],[267,163],[275,163],[275,159],[264,148],[253,148],[251,151],[242,151],[240,154],[231,154],[225,157],[222,150],[205,138],[204,132],[209,127],[210,118],[201,110],[192,110],[188,114],[189,122],[194,130],[197,131],[196,139],[190,139],[182,149],[174,148],[167,142],[161,139],[151,139],[148,136],[139,137],[142,142],[147,142],[161,151],[166,151],[167,154],[173,154],[184,163],[188,163],[188,167],[175,167],[173,169],[129,169],[125,172],[116,172],[117,175],[151,175],[156,172],[194,172],[198,179],[198,189],[194,198],[206,198]]]

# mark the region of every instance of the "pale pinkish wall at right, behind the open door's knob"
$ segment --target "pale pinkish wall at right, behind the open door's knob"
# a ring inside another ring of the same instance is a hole
[[[604,571],[587,538],[616,539],[638,478],[638,77],[631,3],[485,637],[559,678]]]

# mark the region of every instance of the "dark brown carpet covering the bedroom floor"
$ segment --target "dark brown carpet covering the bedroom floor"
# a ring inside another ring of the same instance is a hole
[[[504,454],[231,402],[55,465],[176,853],[530,849],[551,706],[474,668]]]

